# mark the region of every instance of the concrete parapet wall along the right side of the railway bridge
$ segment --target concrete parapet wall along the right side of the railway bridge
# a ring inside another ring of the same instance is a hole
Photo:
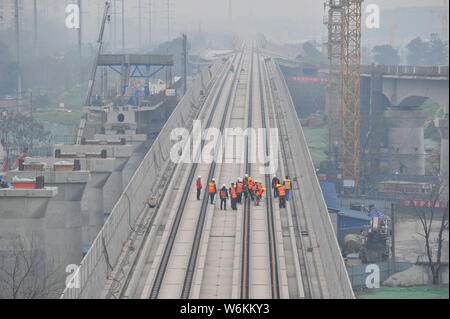
[[[290,139],[292,143],[291,149],[297,158],[296,163],[301,163],[301,165],[295,165],[295,173],[298,185],[300,186],[306,215],[311,221],[312,229],[316,234],[315,237],[318,246],[313,247],[313,249],[319,252],[320,265],[323,268],[323,275],[328,290],[328,298],[353,299],[355,296],[351,282],[316,176],[316,170],[300,120],[297,116],[286,81],[278,65],[276,65],[276,70],[278,71],[278,78],[281,83],[281,87],[278,89],[284,92],[284,96],[288,97],[288,103],[281,104],[285,107],[285,119],[288,127],[292,128],[291,134],[294,135],[294,138]],[[294,147],[292,148],[292,146]]]

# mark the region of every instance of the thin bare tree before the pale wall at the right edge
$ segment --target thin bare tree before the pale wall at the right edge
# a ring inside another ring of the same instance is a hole
[[[426,207],[417,207],[411,195],[405,193],[405,198],[412,201],[420,223],[421,232],[417,234],[424,239],[426,263],[430,267],[433,284],[439,284],[439,275],[442,268],[442,250],[445,241],[445,231],[448,231],[449,216],[448,211],[442,211],[441,214],[436,213],[435,203],[440,199],[448,198],[448,182],[445,178],[440,179],[439,183],[433,185],[430,195],[426,199],[428,205]],[[445,196],[445,194],[447,194]],[[444,196],[443,196],[444,195]],[[436,230],[437,226],[437,230]]]

